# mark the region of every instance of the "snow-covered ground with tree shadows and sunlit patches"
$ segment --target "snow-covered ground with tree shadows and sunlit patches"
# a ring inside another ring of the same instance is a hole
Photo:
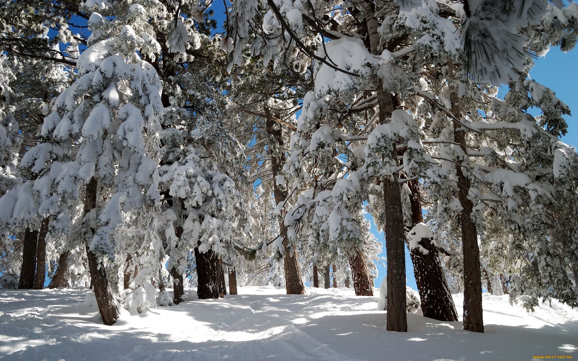
[[[387,332],[377,297],[350,289],[242,287],[240,295],[125,312],[114,326],[84,307],[86,289],[0,290],[2,360],[531,360],[578,358],[578,310],[553,303],[530,314],[484,294],[486,333],[407,315]],[[461,295],[454,296],[461,305]],[[461,307],[458,307],[461,314]]]

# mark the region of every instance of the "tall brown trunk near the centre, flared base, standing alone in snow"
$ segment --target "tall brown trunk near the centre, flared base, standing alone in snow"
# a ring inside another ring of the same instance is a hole
[[[271,173],[273,180],[275,180],[277,176],[280,175],[281,167],[285,162],[283,137],[280,125],[269,118],[266,120],[266,128],[268,135],[273,136],[276,143],[274,145],[270,144],[272,146]],[[278,154],[275,154],[275,149],[278,150]],[[279,188],[277,181],[273,181],[273,196],[275,196],[276,204],[283,202],[285,198],[287,198],[287,191]],[[284,212],[281,212],[281,215],[284,215]],[[281,217],[281,219],[284,219],[284,217]],[[290,244],[289,237],[287,236],[287,226],[283,221],[279,222],[279,230],[283,237],[283,248],[285,250],[283,265],[285,269],[285,288],[287,295],[305,295],[305,284],[301,279],[301,267],[299,267],[297,248]]]

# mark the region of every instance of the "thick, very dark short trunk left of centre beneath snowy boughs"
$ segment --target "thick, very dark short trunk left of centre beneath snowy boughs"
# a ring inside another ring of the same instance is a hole
[[[225,273],[219,257],[213,250],[199,252],[195,247],[197,260],[197,296],[199,299],[217,299],[225,296]]]

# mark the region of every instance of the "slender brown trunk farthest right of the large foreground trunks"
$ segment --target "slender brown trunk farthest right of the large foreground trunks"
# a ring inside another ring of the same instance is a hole
[[[451,113],[461,119],[460,99],[453,90],[450,92]],[[467,160],[466,133],[461,124],[454,121],[454,141],[460,144]],[[460,162],[461,163],[461,162]],[[481,265],[480,248],[477,245],[476,224],[472,221],[473,202],[469,199],[471,183],[461,166],[455,168],[458,181],[458,200],[462,206],[460,223],[462,228],[462,250],[464,252],[464,330],[484,332],[483,308],[481,305]]]

